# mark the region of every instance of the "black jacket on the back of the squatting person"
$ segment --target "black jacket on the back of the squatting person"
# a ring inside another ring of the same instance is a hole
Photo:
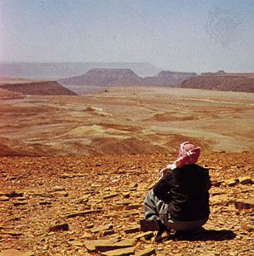
[[[211,181],[207,169],[186,165],[169,170],[153,187],[153,193],[169,204],[170,217],[180,221],[208,218]]]

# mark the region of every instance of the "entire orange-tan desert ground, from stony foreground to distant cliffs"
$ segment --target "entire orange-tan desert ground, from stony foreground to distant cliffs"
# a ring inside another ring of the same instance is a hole
[[[252,93],[0,90],[0,113],[0,252],[253,255]],[[142,202],[183,141],[201,146],[199,164],[210,169],[211,217],[205,233],[156,243],[154,232],[139,229]],[[129,253],[107,250],[123,244]]]

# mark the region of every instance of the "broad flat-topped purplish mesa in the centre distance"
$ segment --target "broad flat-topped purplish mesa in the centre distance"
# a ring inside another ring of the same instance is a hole
[[[72,85],[117,86],[140,85],[143,84],[143,79],[130,69],[94,68],[82,76],[60,79],[59,82]]]

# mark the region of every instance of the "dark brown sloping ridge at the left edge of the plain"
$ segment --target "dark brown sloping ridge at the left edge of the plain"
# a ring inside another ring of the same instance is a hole
[[[56,81],[0,84],[0,89],[20,92],[26,95],[76,95],[72,90],[65,88]]]

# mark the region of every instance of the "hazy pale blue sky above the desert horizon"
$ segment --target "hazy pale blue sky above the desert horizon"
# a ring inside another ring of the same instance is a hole
[[[0,0],[0,61],[254,72],[254,0]]]

